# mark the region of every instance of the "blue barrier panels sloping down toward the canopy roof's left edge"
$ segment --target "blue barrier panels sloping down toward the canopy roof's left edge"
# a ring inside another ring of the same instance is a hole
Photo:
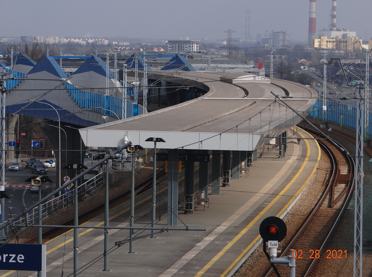
[[[102,115],[122,118],[122,98],[81,90],[67,82],[64,82],[64,86],[71,98],[81,109],[94,110],[95,112],[102,113]],[[124,111],[126,114],[125,117],[146,113],[143,106],[134,104],[128,99],[125,102]]]

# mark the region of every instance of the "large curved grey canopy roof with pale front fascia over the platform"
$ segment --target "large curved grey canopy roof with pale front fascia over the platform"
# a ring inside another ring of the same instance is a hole
[[[207,86],[201,97],[140,116],[80,129],[86,146],[116,147],[127,136],[133,145],[153,148],[149,137],[163,138],[164,149],[211,149],[254,151],[271,138],[301,121],[301,117],[275,101],[270,91],[304,116],[315,104],[311,87],[248,73],[170,72],[151,73],[149,78],[181,83],[189,87]],[[176,77],[178,76],[178,77]]]

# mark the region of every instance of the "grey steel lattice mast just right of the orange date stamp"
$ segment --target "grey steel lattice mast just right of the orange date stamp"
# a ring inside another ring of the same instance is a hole
[[[356,151],[355,151],[355,217],[354,217],[354,277],[362,277],[363,238],[363,82],[358,81],[359,96],[356,106]]]

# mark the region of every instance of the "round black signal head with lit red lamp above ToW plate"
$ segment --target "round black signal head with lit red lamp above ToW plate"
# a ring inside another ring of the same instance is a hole
[[[264,241],[280,242],[287,235],[287,226],[282,219],[269,216],[261,222],[260,235]]]

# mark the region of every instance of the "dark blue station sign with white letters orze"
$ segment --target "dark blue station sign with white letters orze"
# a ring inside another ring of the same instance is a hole
[[[45,244],[0,244],[0,270],[45,271]]]

